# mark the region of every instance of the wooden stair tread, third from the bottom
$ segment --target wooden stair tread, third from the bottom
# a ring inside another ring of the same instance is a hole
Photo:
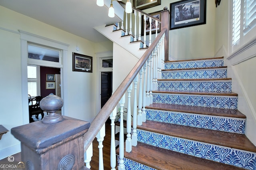
[[[215,107],[200,107],[200,106],[182,106],[175,104],[160,104],[153,103],[146,106],[146,109],[158,109],[165,111],[175,111],[182,113],[194,113],[202,115],[214,115],[222,117],[236,117],[241,119],[246,119],[246,115],[238,111],[237,109],[222,109]]]

